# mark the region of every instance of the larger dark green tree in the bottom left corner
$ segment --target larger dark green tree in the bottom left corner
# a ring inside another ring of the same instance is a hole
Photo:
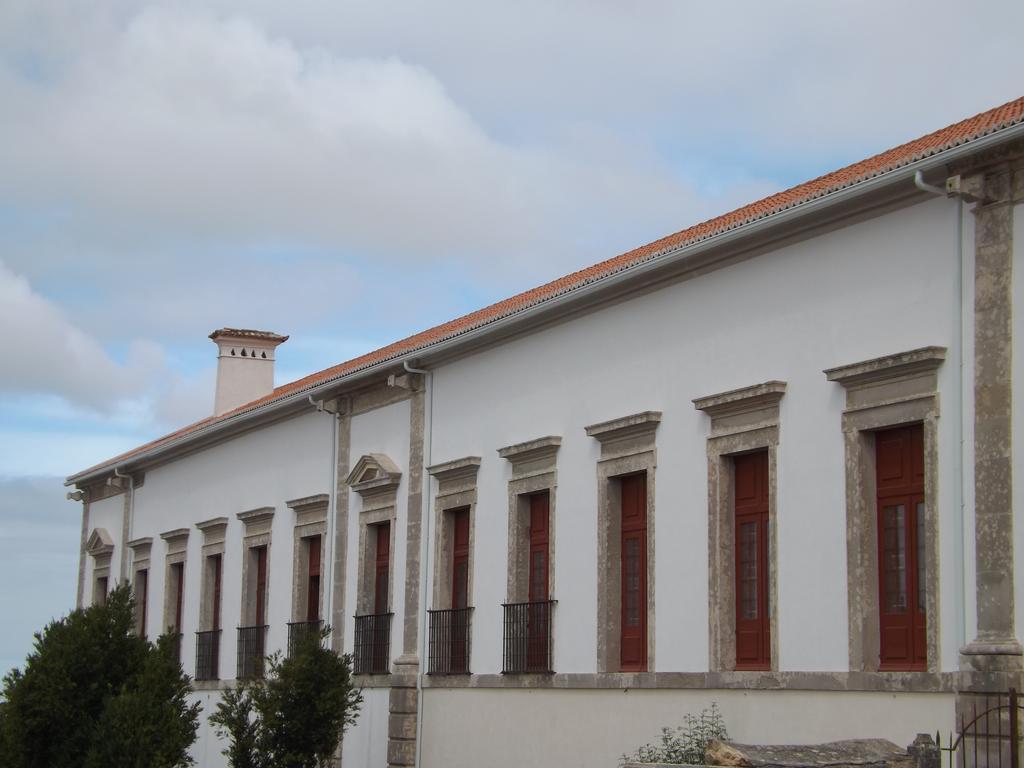
[[[25,671],[3,681],[2,768],[190,765],[199,705],[170,640],[133,632],[127,585],[105,605],[72,611],[36,634]]]

